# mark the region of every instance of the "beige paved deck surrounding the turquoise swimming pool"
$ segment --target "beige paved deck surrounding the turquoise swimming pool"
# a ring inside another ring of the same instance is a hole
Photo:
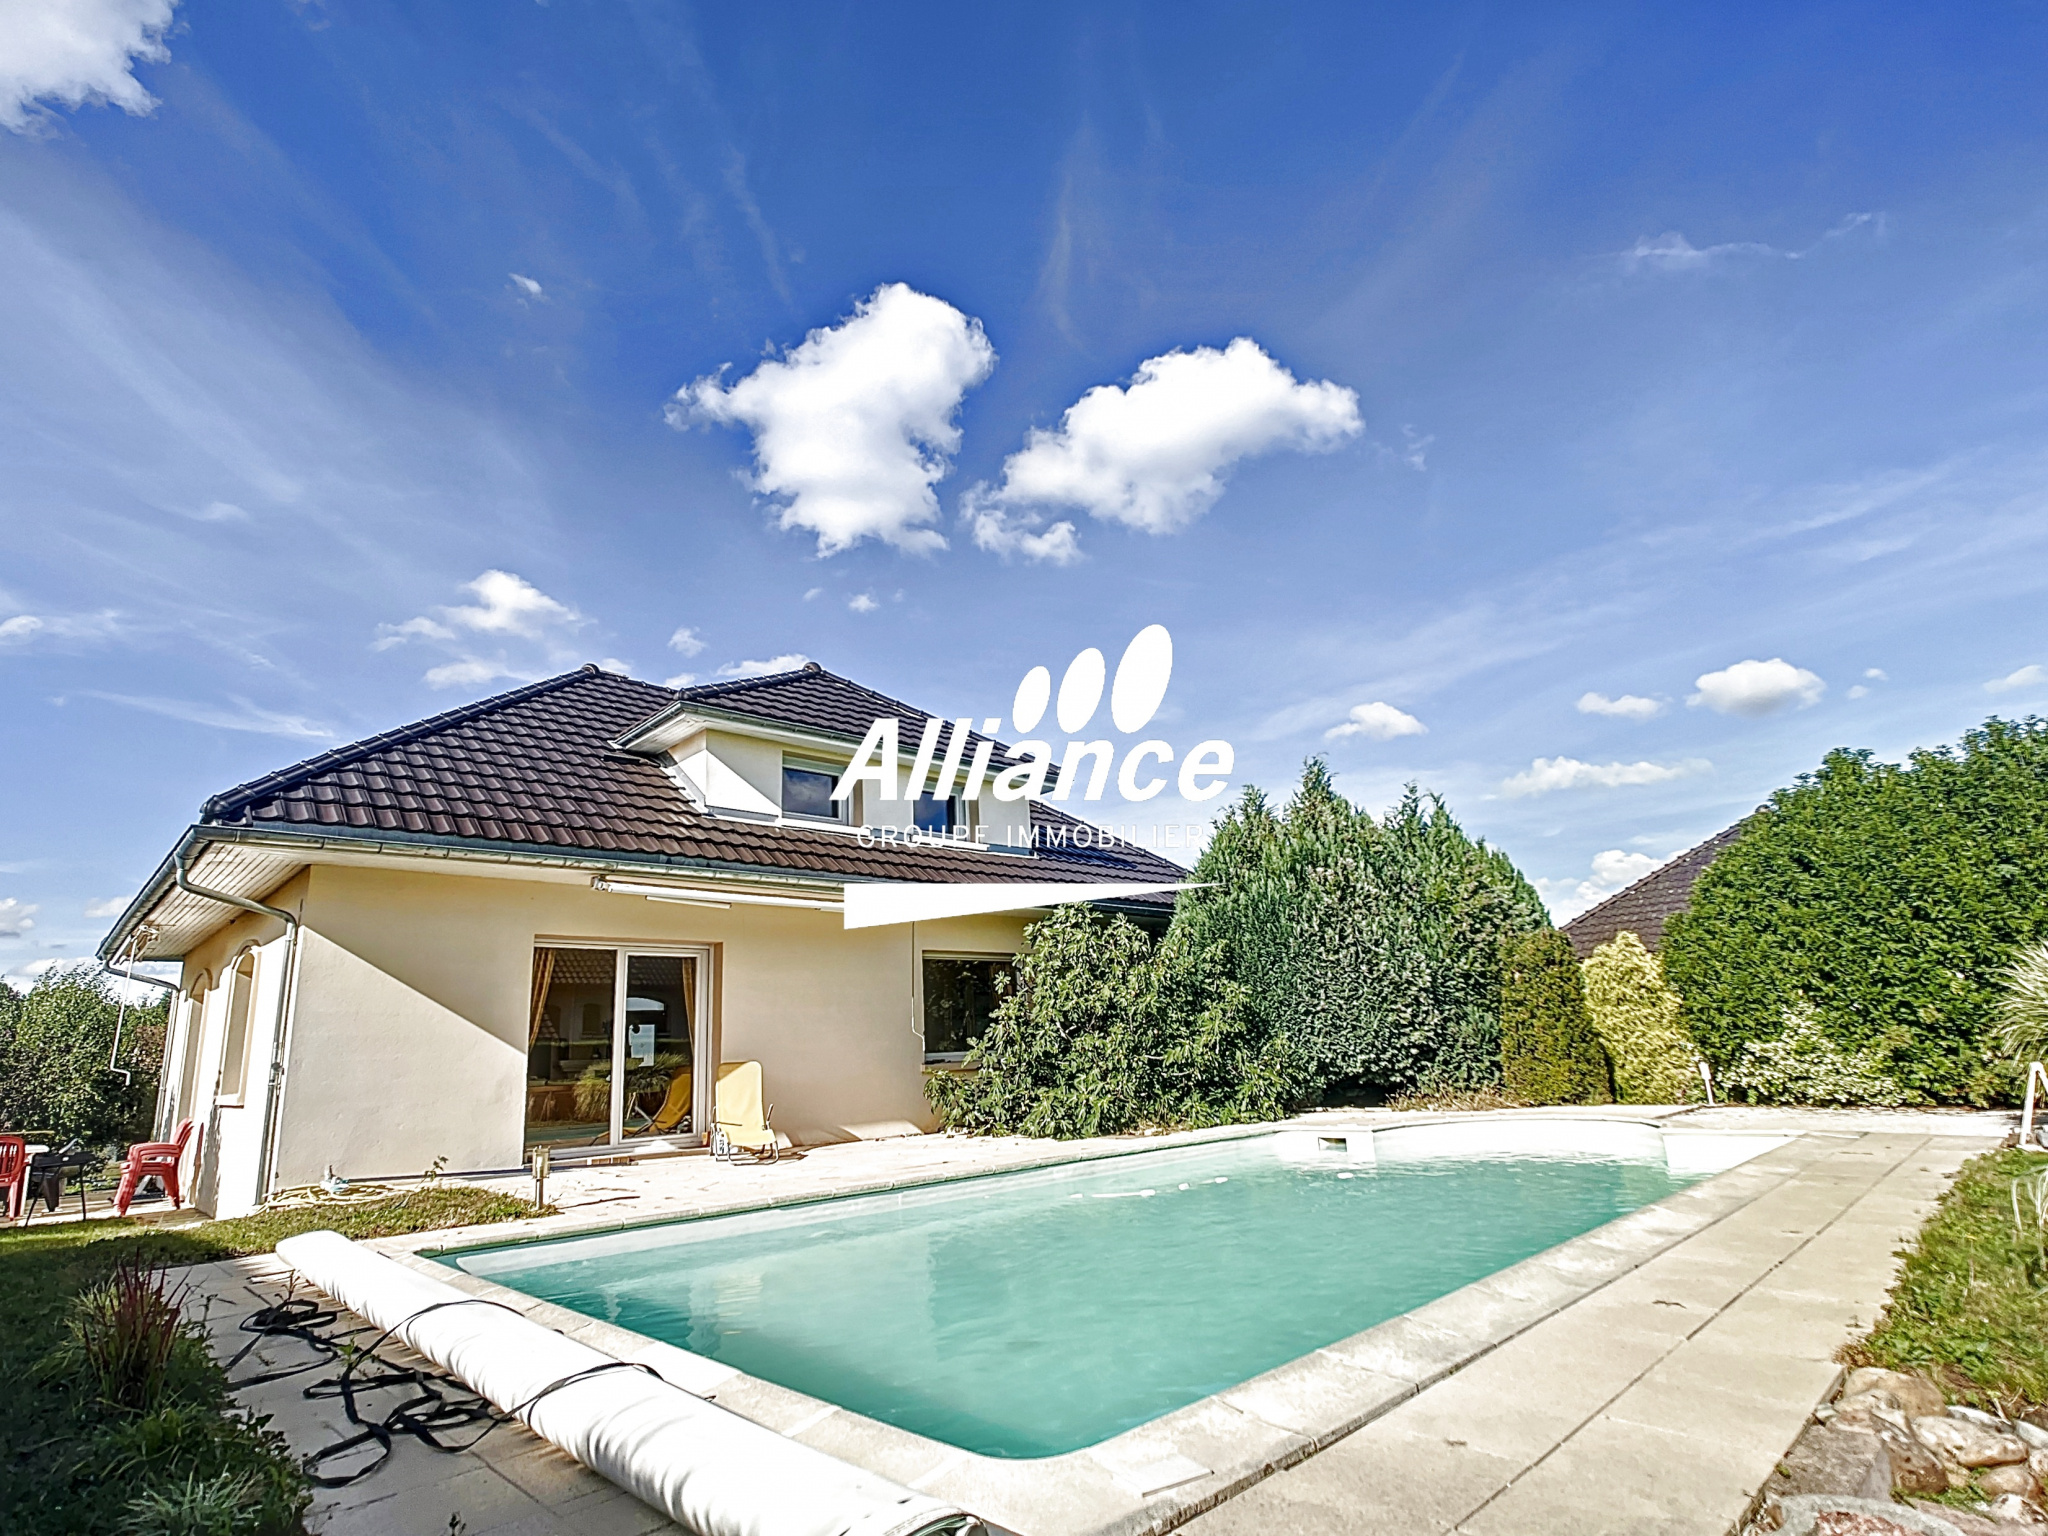
[[[1122,1442],[1122,1464],[1090,1462],[1090,1452],[997,1462],[1004,1485],[995,1487],[989,1468],[973,1464],[983,1458],[795,1393],[754,1393],[766,1384],[748,1378],[739,1378],[745,1391],[713,1391],[782,1434],[950,1497],[1024,1536],[1171,1526],[1720,1536],[1831,1389],[1833,1352],[1874,1319],[1892,1278],[1892,1249],[1919,1227],[1954,1169],[2011,1124],[2001,1114],[1741,1108],[1487,1118],[1546,1116],[1655,1118],[1675,1128],[1796,1139],[1694,1186],[1673,1208],[1624,1217],[1245,1389],[1118,1436],[1108,1444]],[[1389,1128],[1421,1118],[1462,1116],[1325,1112],[1294,1124]],[[551,1184],[561,1217],[375,1247],[555,1237],[1198,1139],[1206,1137],[1049,1147],[926,1137],[815,1149],[776,1167],[694,1157],[590,1167],[559,1171]],[[236,1315],[283,1280],[274,1260],[209,1266],[199,1278],[221,1298],[215,1323],[231,1348],[246,1339],[233,1333]],[[604,1348],[590,1335],[604,1325],[573,1319],[563,1331],[569,1327]],[[266,1341],[256,1358],[285,1360],[295,1348]],[[334,1438],[334,1405],[305,1403],[291,1378],[254,1389],[250,1405],[276,1413],[299,1450]],[[1069,1466],[1061,1473],[1053,1462]],[[1161,1481],[1169,1485],[1151,1487]],[[461,1513],[469,1536],[666,1528],[662,1516],[516,1425],[459,1456],[401,1442],[389,1466],[324,1495],[313,1528],[440,1532],[451,1513]]]

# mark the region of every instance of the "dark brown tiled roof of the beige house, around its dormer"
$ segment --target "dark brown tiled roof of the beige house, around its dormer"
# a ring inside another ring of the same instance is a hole
[[[883,694],[823,670],[784,672],[678,694],[612,672],[582,668],[461,709],[385,731],[346,748],[238,784],[201,807],[188,834],[209,831],[406,844],[422,852],[578,856],[649,870],[709,868],[827,881],[1159,881],[1186,870],[1159,854],[1114,840],[1106,848],[1055,848],[1026,858],[979,848],[862,848],[844,831],[715,817],[694,809],[651,756],[621,752],[649,717],[709,696],[719,709],[860,737],[872,715],[926,719]],[[805,702],[819,717],[801,715]],[[905,754],[915,743],[905,743]],[[1034,803],[1032,823],[1079,825]],[[205,883],[203,874],[197,874]],[[254,874],[250,879],[256,879]],[[170,893],[170,860],[109,934],[123,934]],[[1137,899],[1139,903],[1145,897]],[[1153,899],[1171,905],[1171,895]]]

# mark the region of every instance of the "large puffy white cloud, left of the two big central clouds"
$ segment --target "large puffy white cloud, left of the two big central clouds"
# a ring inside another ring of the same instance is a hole
[[[932,487],[961,446],[961,399],[993,367],[979,319],[887,283],[731,387],[721,375],[684,385],[668,422],[752,428],[750,485],[780,500],[784,528],[815,532],[819,555],[862,539],[922,555],[946,547],[926,526],[938,518]]]

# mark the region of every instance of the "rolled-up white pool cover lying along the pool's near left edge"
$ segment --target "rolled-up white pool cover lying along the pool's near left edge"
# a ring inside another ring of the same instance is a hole
[[[659,1376],[618,1370],[612,1356],[588,1343],[479,1303],[340,1233],[289,1237],[276,1251],[348,1311],[391,1329],[500,1411],[522,1409],[537,1436],[696,1536],[983,1530],[954,1505],[764,1430]]]

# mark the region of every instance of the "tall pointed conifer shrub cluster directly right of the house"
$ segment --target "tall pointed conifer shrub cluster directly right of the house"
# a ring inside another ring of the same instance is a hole
[[[1311,760],[1274,813],[1247,788],[1217,823],[1174,930],[1223,944],[1251,1014],[1319,1087],[1499,1085],[1499,942],[1546,924],[1497,850],[1413,788],[1374,821]]]

